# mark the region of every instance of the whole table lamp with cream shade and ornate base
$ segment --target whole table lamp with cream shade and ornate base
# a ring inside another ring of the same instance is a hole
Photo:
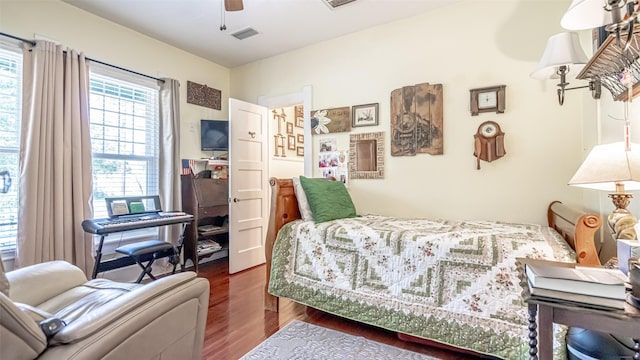
[[[616,209],[607,219],[609,227],[617,239],[637,238],[637,220],[627,210],[633,195],[625,190],[640,190],[640,145],[627,141],[594,146],[569,185],[610,191]]]

